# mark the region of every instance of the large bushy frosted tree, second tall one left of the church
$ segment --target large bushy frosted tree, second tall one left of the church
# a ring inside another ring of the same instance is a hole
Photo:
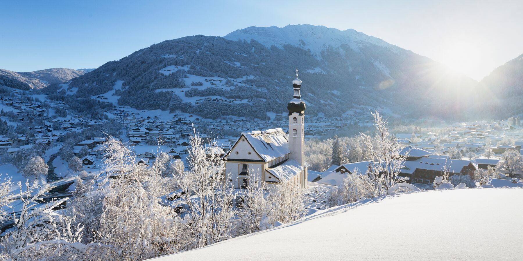
[[[114,138],[108,138],[103,149],[104,162],[118,178],[108,183],[96,242],[118,248],[116,257],[126,260],[178,252],[181,223],[173,208],[158,201],[165,162],[149,169],[138,166],[132,151]]]

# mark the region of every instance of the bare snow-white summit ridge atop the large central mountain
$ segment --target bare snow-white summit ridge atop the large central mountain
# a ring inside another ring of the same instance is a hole
[[[354,29],[341,31],[335,28],[313,25],[288,25],[286,27],[247,27],[245,29],[233,31],[224,36],[228,40],[255,40],[267,48],[275,45],[283,48],[285,44],[299,46],[310,50],[316,57],[321,57],[321,51],[329,47],[337,48],[342,44],[347,44],[351,49],[359,51],[365,46],[377,45],[392,52],[400,52],[401,48],[389,44],[376,37],[358,32]],[[379,67],[385,73],[385,68]],[[386,73],[385,73],[386,74]]]

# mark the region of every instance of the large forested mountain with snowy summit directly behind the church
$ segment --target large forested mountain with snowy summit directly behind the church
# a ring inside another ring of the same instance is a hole
[[[312,115],[380,108],[396,116],[459,117],[463,97],[477,84],[355,30],[290,25],[167,40],[108,62],[70,86],[92,96],[112,91],[119,105],[139,110],[268,118],[286,111],[296,67]],[[118,80],[123,85],[116,90]]]

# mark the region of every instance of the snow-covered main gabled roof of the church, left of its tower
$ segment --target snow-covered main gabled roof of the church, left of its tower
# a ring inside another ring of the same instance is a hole
[[[290,153],[287,134],[281,128],[247,132],[242,135],[265,162]]]

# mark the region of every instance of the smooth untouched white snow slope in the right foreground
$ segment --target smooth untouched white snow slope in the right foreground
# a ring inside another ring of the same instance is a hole
[[[151,260],[520,260],[522,196],[469,188],[366,200]]]

